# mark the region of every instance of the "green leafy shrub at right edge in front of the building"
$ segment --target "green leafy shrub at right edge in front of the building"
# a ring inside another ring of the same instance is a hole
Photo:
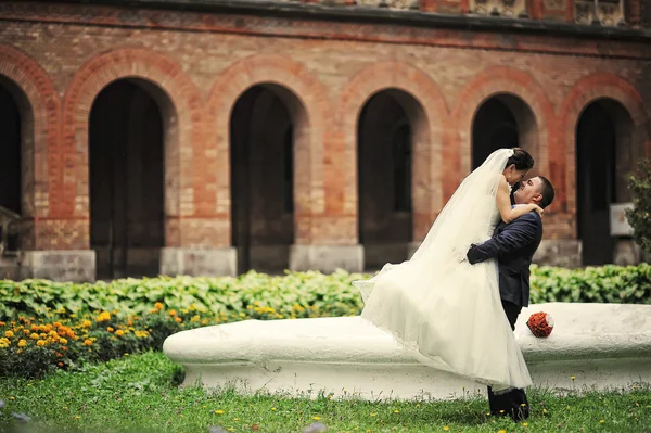
[[[634,207],[626,211],[626,219],[633,227],[636,243],[651,254],[651,160],[639,162],[638,171],[637,176],[629,177]]]

